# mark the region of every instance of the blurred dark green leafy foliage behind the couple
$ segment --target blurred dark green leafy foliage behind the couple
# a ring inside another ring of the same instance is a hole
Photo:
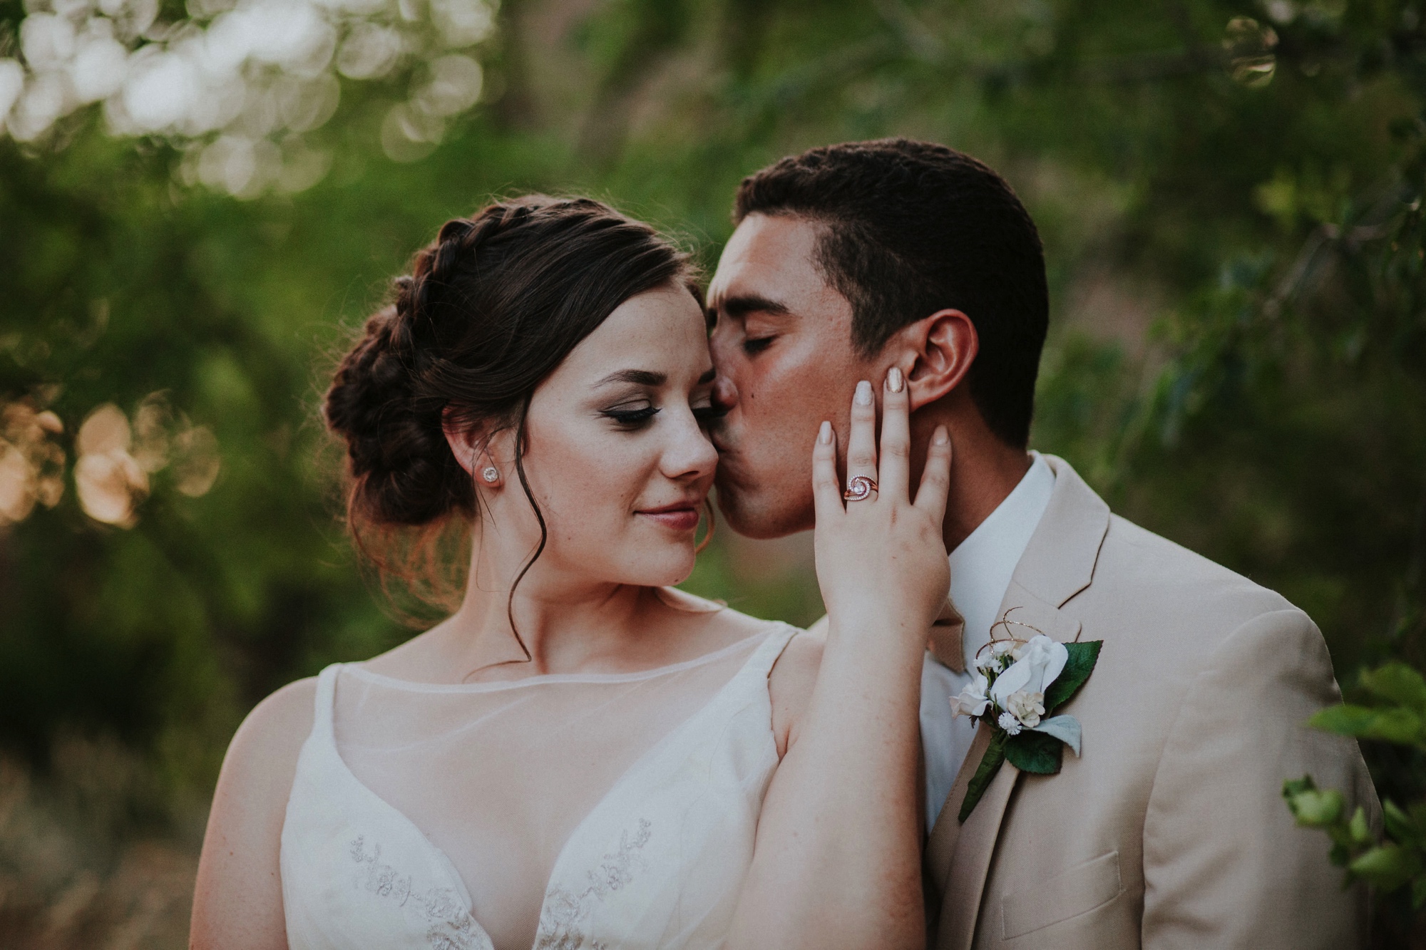
[[[0,0],[0,56],[26,16]],[[1047,248],[1032,445],[1306,609],[1349,693],[1426,662],[1422,3],[505,0],[476,56],[481,101],[415,161],[381,144],[402,80],[344,80],[299,193],[191,184],[183,141],[96,108],[0,137],[0,401],[53,409],[73,459],[97,405],[163,392],[221,456],[201,496],[155,472],[128,528],[73,482],[0,528],[6,946],[184,946],[242,715],[409,635],[335,521],[314,409],[389,277],[491,194],[592,193],[712,265],[739,178],[783,154],[975,154]],[[820,612],[806,538],[724,532],[689,586]],[[1383,796],[1426,793],[1420,750],[1363,747]],[[1376,946],[1419,923],[1385,900]]]

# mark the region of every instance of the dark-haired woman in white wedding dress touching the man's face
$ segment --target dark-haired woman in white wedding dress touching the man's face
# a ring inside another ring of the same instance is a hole
[[[700,294],[657,233],[590,200],[502,201],[446,223],[396,290],[325,418],[358,543],[389,565],[394,532],[468,525],[463,599],[252,710],[191,946],[923,946],[944,431],[915,504],[894,371],[880,466],[873,388],[848,394],[847,476],[880,494],[844,502],[833,427],[809,434],[819,639],[670,586],[717,455]]]

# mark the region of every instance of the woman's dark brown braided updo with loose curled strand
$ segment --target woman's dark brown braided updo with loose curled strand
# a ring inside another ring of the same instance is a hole
[[[386,543],[408,529],[429,542],[479,514],[443,422],[483,425],[485,438],[516,429],[542,532],[528,571],[548,536],[522,464],[535,388],[622,302],[670,282],[699,297],[694,281],[657,231],[590,198],[526,195],[446,221],[395,280],[395,301],[366,320],[322,407],[347,446],[348,526],[384,579],[425,581],[424,599],[446,608],[459,601],[434,578],[435,545],[408,546],[399,563]]]

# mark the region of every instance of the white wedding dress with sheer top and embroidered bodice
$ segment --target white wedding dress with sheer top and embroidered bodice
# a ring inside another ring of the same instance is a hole
[[[523,950],[535,921],[536,950],[722,946],[794,633],[463,686],[328,666],[282,826],[289,947]]]

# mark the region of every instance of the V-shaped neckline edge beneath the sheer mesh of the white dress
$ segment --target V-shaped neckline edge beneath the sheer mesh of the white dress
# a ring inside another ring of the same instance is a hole
[[[784,625],[779,623],[779,628],[781,628],[781,626],[784,626]],[[560,880],[560,870],[562,870],[562,866],[565,864],[566,856],[570,852],[570,846],[580,837],[580,833],[583,833],[585,829],[589,827],[592,819],[609,802],[612,802],[615,799],[615,793],[619,792],[619,789],[622,786],[627,785],[640,770],[646,769],[649,766],[649,763],[653,762],[653,759],[666,749],[666,746],[674,739],[674,736],[677,736],[679,733],[687,730],[687,729],[690,729],[693,726],[693,723],[696,723],[699,719],[702,719],[703,716],[706,716],[712,709],[714,709],[729,695],[729,692],[732,692],[733,685],[739,683],[743,679],[743,676],[747,673],[747,670],[753,666],[753,660],[757,659],[759,656],[761,656],[763,650],[767,648],[767,643],[771,642],[773,636],[776,636],[777,633],[779,633],[777,629],[770,630],[763,638],[763,642],[753,648],[753,652],[749,655],[747,660],[744,660],[743,665],[737,669],[737,672],[734,672],[729,678],[729,680],[726,683],[723,683],[717,689],[717,692],[714,692],[713,696],[710,696],[709,700],[703,706],[700,706],[687,719],[684,719],[677,726],[674,726],[672,730],[669,730],[669,733],[666,736],[663,736],[662,739],[659,739],[656,743],[653,743],[653,746],[650,746],[649,749],[646,749],[637,759],[635,759],[633,763],[627,769],[625,769],[623,773],[620,773],[617,779],[613,780],[613,783],[609,786],[609,789],[605,792],[605,795],[600,796],[600,799],[593,805],[593,807],[590,807],[589,812],[585,813],[585,817],[582,817],[575,824],[573,830],[570,830],[570,833],[569,833],[569,837],[565,839],[565,843],[560,846],[559,852],[555,854],[553,864],[550,864],[549,879],[545,882],[545,890],[540,894],[539,921],[536,921],[536,924],[535,924],[535,941],[530,944],[532,950],[538,950],[539,949],[540,937],[543,936],[542,931],[540,931],[540,926],[543,924],[543,921],[546,919],[546,913],[549,910],[550,892],[555,889],[555,883],[558,880]],[[732,646],[737,646],[737,643],[734,643]],[[724,648],[724,649],[727,649],[727,648]],[[717,650],[717,652],[723,652],[723,650]],[[331,676],[331,682],[329,682],[329,685],[327,688],[327,696],[325,696],[325,699],[327,699],[325,706],[327,708],[322,710],[322,722],[319,723],[319,726],[321,726],[321,736],[322,736],[322,740],[324,740],[322,742],[324,752],[327,752],[329,755],[329,757],[331,757],[331,760],[332,760],[337,772],[341,775],[342,780],[348,782],[352,787],[355,787],[359,795],[366,796],[372,802],[375,802],[378,809],[382,809],[386,813],[389,813],[392,817],[396,819],[396,822],[399,824],[404,824],[406,829],[409,829],[411,832],[414,832],[415,836],[421,842],[425,842],[425,844],[431,849],[431,852],[434,854],[439,856],[441,863],[445,867],[446,876],[451,879],[451,883],[455,886],[459,897],[462,899],[462,903],[465,904],[466,917],[471,919],[471,924],[475,927],[476,931],[479,931],[479,936],[485,940],[485,944],[488,947],[491,947],[491,950],[493,950],[495,941],[491,940],[491,934],[485,930],[485,927],[481,924],[479,919],[475,916],[475,902],[471,899],[471,890],[469,890],[469,887],[466,887],[465,879],[461,876],[461,872],[455,866],[455,862],[451,860],[451,856],[446,854],[446,852],[439,844],[436,844],[435,842],[432,842],[425,834],[425,832],[422,832],[421,827],[414,820],[411,820],[409,816],[406,816],[405,812],[402,812],[401,809],[398,809],[392,803],[386,802],[386,799],[384,799],[379,795],[376,795],[361,779],[358,779],[356,773],[352,772],[351,767],[347,765],[347,760],[342,759],[341,750],[337,747],[337,676],[344,669],[347,669],[348,666],[355,666],[355,665],[334,663],[327,670],[322,670],[324,675]],[[362,670],[362,672],[365,673],[366,670]]]

